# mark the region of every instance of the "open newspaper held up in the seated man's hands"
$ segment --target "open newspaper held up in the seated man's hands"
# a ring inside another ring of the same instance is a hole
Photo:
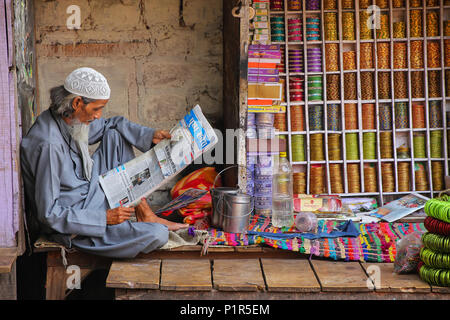
[[[199,105],[186,114],[170,134],[170,140],[162,140],[139,157],[100,176],[110,208],[137,204],[218,142]]]

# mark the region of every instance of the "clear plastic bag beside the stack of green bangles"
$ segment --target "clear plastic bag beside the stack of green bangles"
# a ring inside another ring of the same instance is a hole
[[[422,235],[425,232],[415,231],[397,241],[397,253],[394,261],[394,272],[398,274],[416,272],[420,262],[420,249],[423,246]]]

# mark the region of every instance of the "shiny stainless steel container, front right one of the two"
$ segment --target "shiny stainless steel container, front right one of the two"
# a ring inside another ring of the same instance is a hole
[[[224,198],[222,228],[225,232],[244,233],[247,231],[253,198],[248,194],[226,194]]]

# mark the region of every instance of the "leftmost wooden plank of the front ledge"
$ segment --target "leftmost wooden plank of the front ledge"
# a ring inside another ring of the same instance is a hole
[[[113,261],[106,286],[112,288],[158,289],[161,260],[129,259]]]

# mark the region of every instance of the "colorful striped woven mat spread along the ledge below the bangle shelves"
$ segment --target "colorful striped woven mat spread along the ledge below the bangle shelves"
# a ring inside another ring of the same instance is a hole
[[[318,229],[331,232],[341,224],[339,221],[319,220]],[[228,233],[210,229],[209,245],[248,246],[267,244],[273,248],[311,254],[322,258],[345,261],[394,262],[397,252],[396,242],[414,231],[426,232],[423,223],[355,223],[360,231],[358,237],[321,238],[309,240],[303,237],[273,240],[259,235]],[[270,218],[254,215],[248,230],[258,232],[298,232],[295,227],[275,228]]]

